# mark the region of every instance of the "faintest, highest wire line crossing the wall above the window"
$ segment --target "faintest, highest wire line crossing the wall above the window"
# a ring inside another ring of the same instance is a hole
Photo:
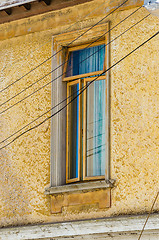
[[[68,28],[65,29],[65,31],[60,32],[58,34],[56,34],[56,36],[59,36],[60,34],[63,34],[65,32],[67,32],[69,29],[71,29],[73,26],[75,26],[76,24],[80,23],[83,21],[83,19],[87,18],[88,16],[90,16],[93,12],[95,12],[97,9],[99,9],[100,7],[102,7],[103,5],[105,5],[105,2],[103,2],[102,4],[100,4],[98,7],[96,7],[95,9],[93,9],[90,13],[88,13],[87,15],[85,15],[84,17],[81,18],[81,20],[76,21],[75,23],[73,23],[71,26],[69,26]],[[47,43],[49,43],[51,40],[49,39],[48,41],[46,41],[45,43],[41,44],[39,47],[35,48],[33,51],[29,52],[27,55],[23,56],[22,58],[18,59],[17,61],[13,62],[12,64],[10,64],[7,67],[4,67],[4,69],[2,70],[2,72],[6,69],[8,69],[9,67],[12,67],[14,64],[17,64],[18,62],[22,61],[24,58],[28,57],[30,54],[34,53],[35,51],[37,51],[38,49],[40,49],[41,47],[45,46]]]

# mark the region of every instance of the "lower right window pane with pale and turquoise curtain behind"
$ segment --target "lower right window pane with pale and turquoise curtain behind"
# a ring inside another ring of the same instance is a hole
[[[105,175],[105,80],[88,87],[86,118],[86,174]]]

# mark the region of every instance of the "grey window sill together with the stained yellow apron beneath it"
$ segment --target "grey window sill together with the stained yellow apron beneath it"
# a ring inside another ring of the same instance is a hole
[[[83,208],[107,209],[111,206],[111,188],[114,180],[106,182],[94,181],[63,186],[50,187],[45,189],[45,194],[51,197],[51,213],[62,213],[64,208],[67,211],[80,211]]]

